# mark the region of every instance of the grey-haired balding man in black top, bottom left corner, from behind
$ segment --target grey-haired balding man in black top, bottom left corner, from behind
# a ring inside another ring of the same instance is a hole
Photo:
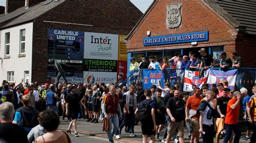
[[[6,142],[28,142],[25,129],[12,124],[13,119],[14,105],[10,102],[4,102],[0,105],[0,139]]]

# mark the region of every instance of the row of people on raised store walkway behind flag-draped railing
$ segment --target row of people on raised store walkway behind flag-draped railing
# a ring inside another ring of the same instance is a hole
[[[136,69],[160,69],[165,70],[166,68],[177,68],[177,69],[197,69],[197,68],[221,68],[227,70],[227,68],[239,68],[242,66],[242,59],[238,56],[237,51],[232,52],[232,60],[227,56],[226,52],[220,53],[220,60],[214,61],[212,56],[206,53],[205,48],[201,48],[197,53],[190,52],[189,55],[181,55],[175,53],[172,58],[159,58],[151,55],[149,57],[143,56],[141,61],[136,61],[134,57],[130,58],[130,71]]]

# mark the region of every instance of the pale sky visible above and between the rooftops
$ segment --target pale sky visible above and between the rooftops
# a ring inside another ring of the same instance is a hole
[[[130,0],[143,13],[149,8],[153,0]],[[0,0],[0,5],[5,6],[6,0]]]

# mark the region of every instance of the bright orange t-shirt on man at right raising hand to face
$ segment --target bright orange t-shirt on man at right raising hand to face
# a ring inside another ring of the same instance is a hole
[[[237,105],[237,108],[232,110],[230,108],[231,105],[237,102],[236,98],[231,98],[230,101],[227,103],[227,114],[225,118],[225,124],[238,124],[238,116],[239,116],[239,108],[240,105]]]

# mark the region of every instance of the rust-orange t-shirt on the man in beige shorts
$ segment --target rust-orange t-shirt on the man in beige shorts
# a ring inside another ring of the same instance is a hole
[[[187,102],[186,102],[187,108],[197,110],[201,103],[201,99],[203,99],[202,96],[197,97],[196,95],[192,95],[192,96],[188,97]],[[198,118],[198,116],[194,116],[192,118]]]

